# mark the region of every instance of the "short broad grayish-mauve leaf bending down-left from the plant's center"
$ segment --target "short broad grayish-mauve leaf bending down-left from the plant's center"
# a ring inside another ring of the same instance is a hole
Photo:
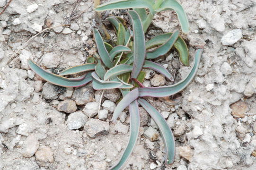
[[[116,122],[116,119],[119,117],[121,112],[131,104],[134,100],[139,97],[139,90],[138,88],[133,89],[131,92],[127,93],[124,98],[117,104],[115,107],[115,111],[113,113],[113,122]]]

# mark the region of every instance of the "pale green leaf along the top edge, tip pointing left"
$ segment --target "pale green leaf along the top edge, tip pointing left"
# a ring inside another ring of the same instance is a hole
[[[154,14],[153,4],[154,0],[112,0],[97,6],[95,10],[100,12],[110,9],[149,8],[150,13]]]

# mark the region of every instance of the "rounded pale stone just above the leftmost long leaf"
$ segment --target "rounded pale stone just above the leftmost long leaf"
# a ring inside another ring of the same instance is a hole
[[[45,53],[42,57],[42,65],[46,68],[56,68],[60,64],[60,57],[55,53]]]

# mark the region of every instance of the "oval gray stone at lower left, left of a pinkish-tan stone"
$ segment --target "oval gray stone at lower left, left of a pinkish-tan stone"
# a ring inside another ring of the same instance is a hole
[[[32,157],[37,149],[39,148],[39,142],[35,138],[35,136],[27,136],[26,140],[23,143],[22,155],[24,157],[30,158]]]

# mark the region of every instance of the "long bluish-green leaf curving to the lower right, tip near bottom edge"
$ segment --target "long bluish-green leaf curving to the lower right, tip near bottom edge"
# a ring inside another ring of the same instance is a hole
[[[163,142],[165,145],[165,163],[171,164],[174,162],[175,158],[175,141],[170,127],[168,126],[166,120],[163,118],[162,114],[159,113],[149,102],[145,99],[139,98],[138,102],[140,105],[149,113],[150,117],[156,122]]]

